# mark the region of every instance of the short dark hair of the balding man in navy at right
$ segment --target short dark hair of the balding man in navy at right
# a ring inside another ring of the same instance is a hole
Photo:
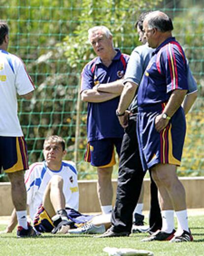
[[[168,15],[155,15],[150,16],[148,19],[149,28],[157,28],[161,32],[173,30],[173,23]]]

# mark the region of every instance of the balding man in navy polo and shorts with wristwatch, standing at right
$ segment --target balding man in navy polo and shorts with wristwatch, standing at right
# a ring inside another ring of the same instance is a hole
[[[185,190],[176,174],[186,132],[181,103],[188,90],[187,61],[172,37],[173,25],[167,14],[151,12],[144,19],[143,29],[149,47],[156,50],[138,89],[137,137],[143,169],[152,170],[161,195],[163,217],[162,230],[143,241],[192,241]]]

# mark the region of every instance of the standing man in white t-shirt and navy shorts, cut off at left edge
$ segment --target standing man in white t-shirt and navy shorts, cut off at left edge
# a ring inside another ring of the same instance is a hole
[[[18,237],[34,236],[27,223],[24,171],[28,167],[27,145],[17,116],[17,97],[30,100],[34,84],[23,61],[7,52],[8,25],[0,22],[0,168],[8,174],[11,197],[16,209]]]

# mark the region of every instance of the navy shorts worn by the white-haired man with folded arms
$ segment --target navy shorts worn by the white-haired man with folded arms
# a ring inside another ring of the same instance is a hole
[[[120,155],[122,138],[107,138],[98,141],[90,141],[87,144],[85,161],[97,167],[111,167],[115,164],[115,153]]]

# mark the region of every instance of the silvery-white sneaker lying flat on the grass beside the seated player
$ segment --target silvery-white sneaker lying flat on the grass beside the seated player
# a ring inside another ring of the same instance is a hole
[[[69,234],[103,234],[105,232],[105,225],[96,226],[92,223],[85,223],[82,227],[69,229]]]

